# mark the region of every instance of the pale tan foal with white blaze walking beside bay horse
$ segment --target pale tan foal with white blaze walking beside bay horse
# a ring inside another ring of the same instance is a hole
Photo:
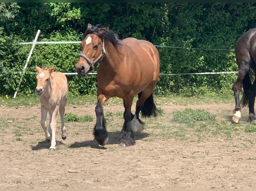
[[[64,113],[68,96],[67,77],[61,72],[54,72],[55,67],[40,68],[35,66],[38,72],[36,76],[37,86],[35,93],[40,97],[41,103],[41,126],[45,133],[45,140],[51,140],[50,151],[55,150],[56,116],[60,114],[61,138],[67,138],[66,127],[64,125]],[[50,119],[47,129],[46,117],[49,111]]]

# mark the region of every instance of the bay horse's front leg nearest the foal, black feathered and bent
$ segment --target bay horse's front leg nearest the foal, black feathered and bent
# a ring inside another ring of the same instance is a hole
[[[104,117],[103,105],[108,100],[108,98],[101,94],[98,95],[98,102],[95,107],[96,113],[96,124],[93,130],[95,139],[100,145],[105,145],[108,142],[108,132],[106,130],[106,119]]]

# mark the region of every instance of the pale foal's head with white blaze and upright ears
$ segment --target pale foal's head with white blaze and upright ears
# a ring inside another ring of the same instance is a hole
[[[55,67],[54,65],[52,65],[50,68],[47,68],[47,67],[40,68],[35,65],[35,69],[38,72],[36,76],[37,85],[36,85],[35,93],[37,95],[42,95],[45,87],[48,84],[51,73],[55,70]]]

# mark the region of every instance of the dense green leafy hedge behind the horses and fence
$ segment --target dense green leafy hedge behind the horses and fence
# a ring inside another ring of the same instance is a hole
[[[255,3],[1,3],[0,94],[12,95],[31,45],[11,42],[81,41],[88,23],[110,25],[120,39],[135,37],[160,48],[162,74],[237,71],[234,46],[256,26]],[[190,49],[195,48],[195,49]],[[202,50],[203,49],[203,50]],[[227,50],[210,50],[227,49]],[[76,72],[80,44],[37,44],[34,65]],[[94,72],[97,72],[97,68]],[[160,76],[158,95],[232,95],[236,74]],[[96,76],[68,75],[70,95],[96,94]],[[35,75],[25,74],[19,93],[34,94]]]

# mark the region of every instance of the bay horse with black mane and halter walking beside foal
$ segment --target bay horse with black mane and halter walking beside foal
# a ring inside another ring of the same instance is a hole
[[[153,89],[159,78],[159,53],[155,46],[145,40],[125,38],[122,41],[109,29],[88,24],[85,39],[81,42],[82,53],[76,64],[78,75],[86,76],[100,62],[97,74],[97,97],[95,107],[97,122],[94,136],[100,145],[108,142],[103,105],[110,97],[120,97],[124,102],[124,124],[119,140],[120,146],[135,143],[134,134],[143,130],[139,118],[157,115]],[[138,95],[133,115],[133,98]]]

